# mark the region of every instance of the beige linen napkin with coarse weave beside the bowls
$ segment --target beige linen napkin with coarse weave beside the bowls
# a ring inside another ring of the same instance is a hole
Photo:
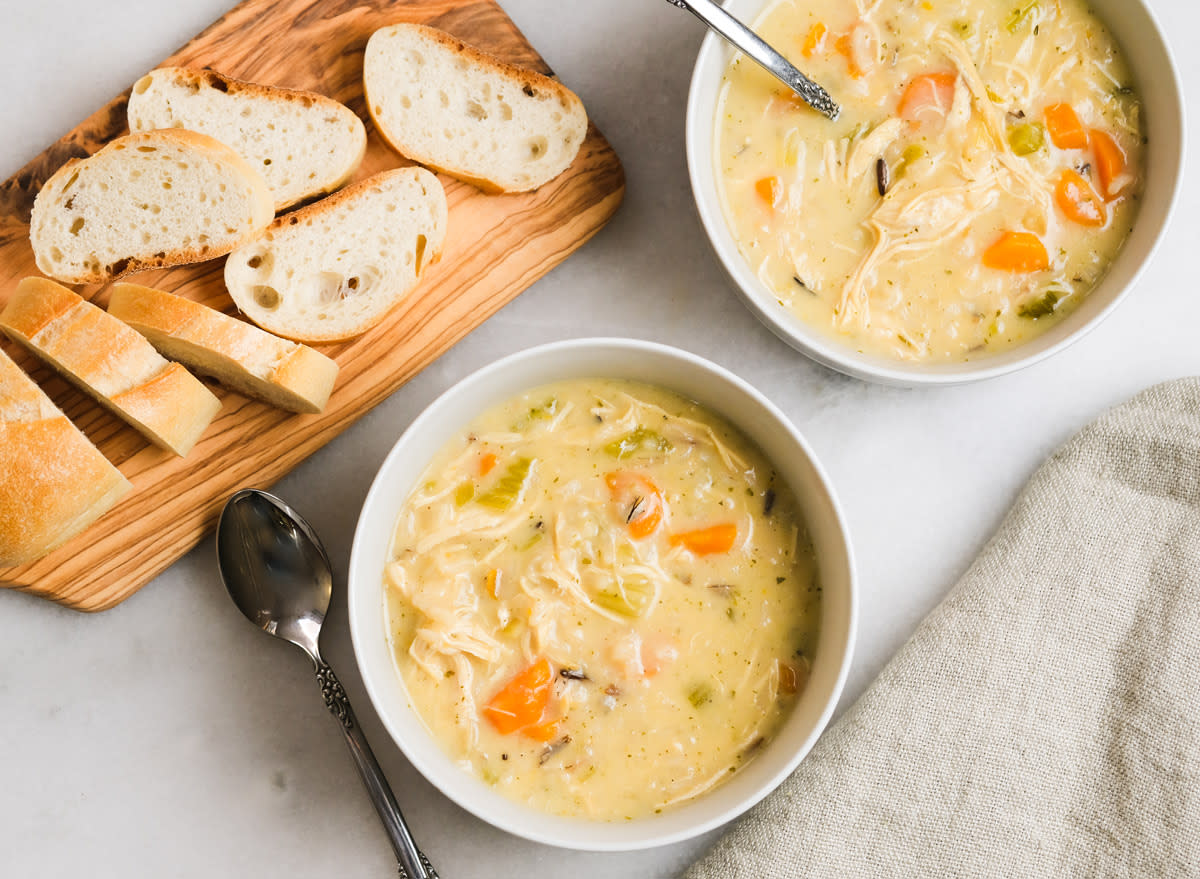
[[[1200,379],[1182,379],[1038,471],[688,879],[1198,875]]]

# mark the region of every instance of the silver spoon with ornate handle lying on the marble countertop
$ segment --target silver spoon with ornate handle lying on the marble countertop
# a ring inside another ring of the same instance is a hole
[[[404,879],[438,879],[416,848],[396,797],[350,710],[346,690],[317,641],[334,590],[332,566],[320,538],[294,509],[265,491],[233,495],[217,522],[217,566],[238,609],[269,635],[312,659],[325,705],[337,718],[354,763],[383,821]]]

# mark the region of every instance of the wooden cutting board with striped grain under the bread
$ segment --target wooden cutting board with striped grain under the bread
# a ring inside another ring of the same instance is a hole
[[[359,179],[408,163],[373,130],[362,97],[367,37],[396,22],[440,28],[506,61],[551,72],[493,0],[246,0],[163,64],[210,66],[342,101],[367,124]],[[0,306],[18,280],[38,274],[29,245],[38,187],[67,159],[90,155],[126,133],[127,97],[128,91],[98,109],[0,186]],[[595,234],[624,192],[620,162],[595,126],[575,163],[536,192],[484,196],[450,178],[442,181],[450,204],[442,261],[382,324],[320,348],[341,366],[320,415],[289,414],[217,390],[221,413],[191,454],[179,459],[149,446],[5,341],[4,349],[100,446],[133,491],[44,558],[0,570],[0,585],[90,611],[127,598],[214,528],[233,491],[271,485],[346,430]],[[233,313],[222,268],[218,259],[130,280]],[[77,289],[107,303],[107,287]]]

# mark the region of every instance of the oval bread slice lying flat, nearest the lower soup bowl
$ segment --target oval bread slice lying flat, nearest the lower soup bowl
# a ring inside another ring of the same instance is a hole
[[[425,168],[397,168],[278,217],[226,262],[238,307],[276,335],[335,342],[366,331],[442,253],[446,197]]]

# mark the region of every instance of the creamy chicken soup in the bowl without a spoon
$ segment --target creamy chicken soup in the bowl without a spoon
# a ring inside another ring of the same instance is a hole
[[[636,383],[552,384],[481,415],[407,500],[384,581],[433,736],[506,796],[600,820],[746,765],[817,636],[786,486],[730,425]]]

